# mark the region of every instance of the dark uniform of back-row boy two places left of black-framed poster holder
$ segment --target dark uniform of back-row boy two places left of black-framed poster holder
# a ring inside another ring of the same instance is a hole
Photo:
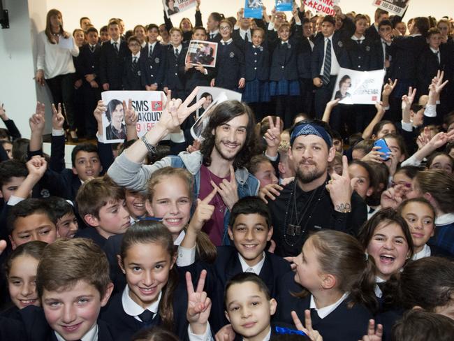
[[[140,51],[140,76],[142,86],[158,85],[158,90],[162,89],[164,80],[164,68],[166,66],[166,46],[159,42],[147,43],[145,48]]]

